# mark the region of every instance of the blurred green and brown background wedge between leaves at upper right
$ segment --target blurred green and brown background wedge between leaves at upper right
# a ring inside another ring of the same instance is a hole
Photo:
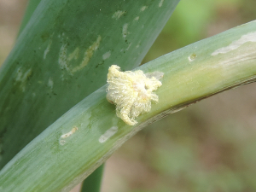
[[[255,19],[254,6],[253,0],[181,1],[143,62]]]

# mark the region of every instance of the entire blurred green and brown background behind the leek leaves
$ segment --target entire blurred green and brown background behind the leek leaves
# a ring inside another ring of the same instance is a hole
[[[0,64],[27,0],[0,0]],[[143,62],[256,20],[255,0],[181,0]],[[102,192],[256,191],[256,84],[144,128],[106,162]]]

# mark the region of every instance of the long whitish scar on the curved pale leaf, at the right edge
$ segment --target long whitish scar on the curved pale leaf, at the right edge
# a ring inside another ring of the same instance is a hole
[[[246,35],[242,35],[241,38],[239,38],[236,41],[233,41],[230,45],[215,50],[212,53],[212,56],[228,53],[231,50],[239,48],[242,44],[245,44],[247,42],[256,42],[256,32],[249,32]]]

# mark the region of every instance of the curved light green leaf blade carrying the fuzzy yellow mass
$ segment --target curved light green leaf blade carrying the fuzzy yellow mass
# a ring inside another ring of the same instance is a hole
[[[255,34],[253,21],[138,67],[165,75],[156,91],[160,102],[139,116],[136,126],[117,118],[106,100],[106,86],[96,90],[3,167],[2,190],[68,191],[143,126],[223,90],[254,82]],[[68,137],[61,137],[66,133]]]

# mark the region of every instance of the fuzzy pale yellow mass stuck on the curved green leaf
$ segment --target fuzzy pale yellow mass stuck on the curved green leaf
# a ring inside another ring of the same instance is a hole
[[[153,91],[161,85],[159,79],[147,77],[141,70],[120,72],[120,67],[113,65],[108,69],[107,99],[116,105],[116,114],[120,119],[128,125],[136,125],[135,118],[149,112],[152,101],[158,102],[158,96]]]

